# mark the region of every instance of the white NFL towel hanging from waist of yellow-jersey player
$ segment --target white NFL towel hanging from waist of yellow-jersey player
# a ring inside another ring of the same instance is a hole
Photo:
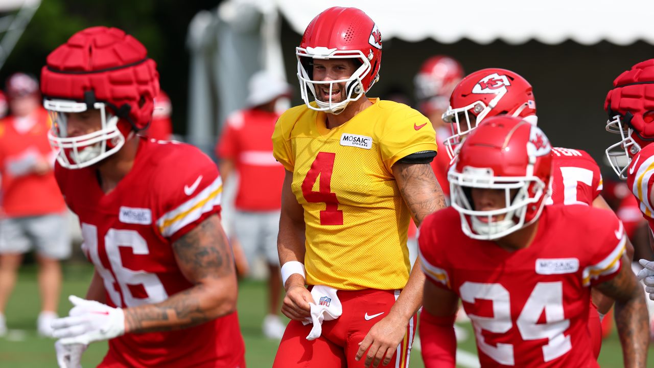
[[[336,289],[325,285],[315,285],[311,289],[311,296],[313,296],[314,303],[309,303],[311,306],[311,318],[307,317],[302,321],[304,325],[313,323],[313,328],[307,340],[315,340],[320,337],[322,333],[322,321],[331,321],[339,318],[343,314],[343,306],[336,295]]]

